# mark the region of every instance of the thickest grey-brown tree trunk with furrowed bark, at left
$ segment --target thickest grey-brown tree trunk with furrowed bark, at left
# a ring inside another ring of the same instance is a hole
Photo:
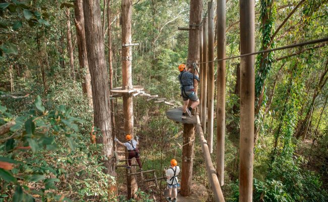
[[[97,143],[103,144],[102,155],[108,158],[104,166],[107,174],[116,176],[114,164],[114,141],[112,138],[110,88],[105,65],[104,39],[101,27],[99,0],[84,0],[85,39],[88,65],[91,76],[94,125],[100,128],[102,137]],[[111,188],[116,190],[116,185]]]

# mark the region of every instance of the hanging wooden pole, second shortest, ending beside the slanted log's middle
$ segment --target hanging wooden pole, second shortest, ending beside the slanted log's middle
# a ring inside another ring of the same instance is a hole
[[[208,61],[214,60],[214,3],[208,2]],[[213,152],[213,122],[214,122],[214,62],[208,63],[207,71],[207,144],[209,152]]]

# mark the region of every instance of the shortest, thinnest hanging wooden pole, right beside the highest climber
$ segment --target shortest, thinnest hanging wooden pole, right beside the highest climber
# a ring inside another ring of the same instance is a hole
[[[203,66],[201,71],[204,72],[202,78],[202,119],[201,119],[201,126],[203,127],[203,131],[206,131],[206,114],[207,114],[207,66],[206,63],[208,61],[207,51],[208,51],[208,19],[204,18],[203,22]]]

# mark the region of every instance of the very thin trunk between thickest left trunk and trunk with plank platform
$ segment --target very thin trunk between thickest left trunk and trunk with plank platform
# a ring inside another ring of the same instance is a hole
[[[113,88],[113,59],[112,59],[112,26],[111,26],[111,0],[107,2],[107,23],[108,23],[108,64],[110,65],[110,89]],[[114,99],[111,99],[111,121],[113,126],[113,138],[116,137],[116,124],[114,116]],[[116,146],[115,146],[116,148]]]

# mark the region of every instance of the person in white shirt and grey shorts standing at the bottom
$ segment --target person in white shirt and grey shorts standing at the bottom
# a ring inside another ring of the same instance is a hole
[[[180,172],[180,168],[177,165],[178,162],[175,159],[172,159],[171,166],[166,171],[167,183],[169,188],[169,197],[166,197],[166,199],[169,202],[177,202],[178,175]],[[173,194],[172,194],[172,189],[173,189]],[[173,200],[171,200],[171,198],[173,198]]]

